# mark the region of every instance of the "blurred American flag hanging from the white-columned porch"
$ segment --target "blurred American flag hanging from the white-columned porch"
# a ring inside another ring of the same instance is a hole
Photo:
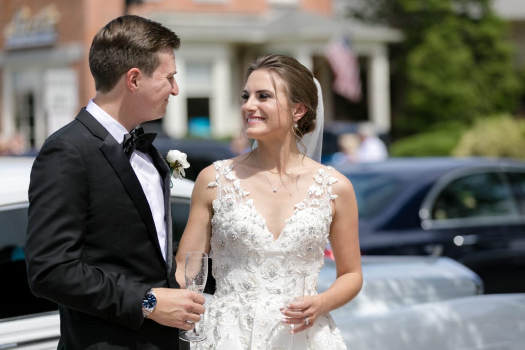
[[[333,90],[352,102],[361,101],[359,60],[352,52],[348,40],[333,39],[327,45],[324,55],[334,74]]]

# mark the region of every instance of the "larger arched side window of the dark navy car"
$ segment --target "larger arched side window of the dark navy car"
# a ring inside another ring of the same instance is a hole
[[[450,182],[437,196],[436,220],[517,215],[510,186],[498,173],[479,173]]]

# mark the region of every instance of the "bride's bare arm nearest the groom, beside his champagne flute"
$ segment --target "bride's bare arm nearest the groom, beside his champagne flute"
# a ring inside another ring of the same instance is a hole
[[[212,201],[216,197],[217,189],[208,187],[208,184],[213,181],[215,181],[215,169],[213,165],[210,165],[197,176],[193,187],[190,216],[175,256],[177,262],[175,278],[181,288],[186,288],[184,281],[186,253],[188,251],[209,253],[209,238],[212,234]]]

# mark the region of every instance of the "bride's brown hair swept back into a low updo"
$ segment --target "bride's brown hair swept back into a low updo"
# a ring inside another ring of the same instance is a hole
[[[312,73],[295,58],[278,54],[262,55],[251,61],[246,72],[246,79],[256,70],[267,70],[277,74],[285,82],[288,105],[292,106],[299,102],[308,109],[297,121],[297,129],[293,129],[296,136],[302,139],[304,134],[313,131],[316,126],[316,110],[319,101]],[[290,116],[293,118],[291,112]]]

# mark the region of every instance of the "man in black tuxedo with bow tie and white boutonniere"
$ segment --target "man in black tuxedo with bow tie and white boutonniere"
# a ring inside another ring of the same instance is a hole
[[[33,165],[28,278],[59,305],[60,349],[177,349],[178,328],[204,312],[204,297],[175,281],[170,169],[154,134],[131,133],[178,94],[179,45],[142,17],[104,26],[89,52],[95,98]]]

